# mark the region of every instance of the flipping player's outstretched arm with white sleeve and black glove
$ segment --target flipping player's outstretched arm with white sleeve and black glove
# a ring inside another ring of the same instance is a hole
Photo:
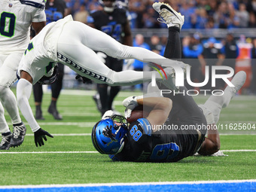
[[[46,136],[53,136],[47,131],[42,130],[41,127],[35,120],[35,117],[32,113],[32,109],[29,105],[29,97],[32,91],[32,77],[27,72],[21,72],[20,81],[17,84],[17,103],[22,112],[23,116],[29,123],[29,126],[32,129],[35,137],[35,145],[38,147],[44,145],[43,139],[47,141]]]

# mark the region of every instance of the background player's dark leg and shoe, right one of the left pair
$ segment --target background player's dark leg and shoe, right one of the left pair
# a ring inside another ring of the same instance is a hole
[[[62,90],[62,80],[64,75],[64,65],[62,63],[58,63],[58,77],[56,81],[50,85],[51,87],[51,102],[48,108],[48,112],[53,115],[54,119],[62,120],[62,115],[59,114],[59,111],[56,108],[56,102],[59,98],[59,93]]]

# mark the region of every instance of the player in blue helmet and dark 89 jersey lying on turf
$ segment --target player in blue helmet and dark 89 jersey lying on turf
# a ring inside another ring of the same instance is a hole
[[[161,21],[169,27],[169,38],[164,56],[181,58],[179,32],[184,17],[171,6],[157,2],[153,8]],[[204,105],[198,106],[192,96],[163,94],[156,87],[148,87],[148,95],[130,96],[123,100],[126,117],[138,105],[150,108],[145,117],[126,123],[126,118],[106,111],[102,120],[93,127],[92,141],[97,151],[109,154],[112,160],[143,162],[176,162],[195,154],[214,154],[220,148],[218,122],[221,108],[245,82],[245,72],[237,73],[231,81],[235,87],[227,87],[222,96],[210,96]],[[169,90],[158,84],[161,90]],[[186,92],[179,87],[179,92]],[[154,93],[153,93],[154,91]],[[157,94],[157,97],[154,96]],[[208,130],[208,137],[206,133]]]

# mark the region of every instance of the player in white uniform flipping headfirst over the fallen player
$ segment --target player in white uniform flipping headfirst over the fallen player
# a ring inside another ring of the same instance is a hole
[[[73,21],[72,16],[47,24],[29,43],[18,69],[20,81],[17,84],[17,102],[34,133],[40,132],[44,138],[47,135],[41,132],[29,106],[32,84],[45,75],[53,75],[50,76],[53,78],[56,62],[62,62],[82,77],[90,78],[98,84],[119,86],[151,81],[153,72],[112,71],[105,66],[93,50],[102,51],[118,59],[160,59],[160,63],[157,63],[159,65],[166,62],[170,66],[178,63],[181,69],[187,66],[183,62],[166,59],[142,47],[120,44],[104,32]],[[172,68],[166,68],[165,72],[169,81],[162,79],[160,74],[156,74],[156,80],[175,89],[173,81],[170,81],[173,77]],[[42,143],[38,144],[42,145]]]

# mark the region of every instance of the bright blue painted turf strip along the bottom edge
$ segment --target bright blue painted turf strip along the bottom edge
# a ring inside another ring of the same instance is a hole
[[[96,185],[96,184],[93,184]],[[107,185],[107,184],[106,184]],[[0,192],[78,192],[78,191],[255,191],[255,181],[203,184],[127,184],[114,186],[81,187],[35,187],[35,188],[1,188]]]

